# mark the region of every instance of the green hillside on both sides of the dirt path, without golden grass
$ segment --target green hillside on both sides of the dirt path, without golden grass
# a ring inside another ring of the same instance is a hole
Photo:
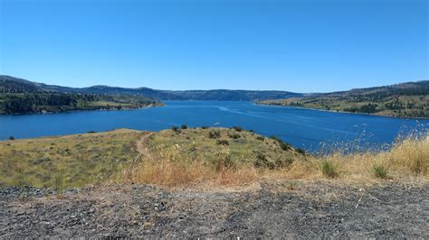
[[[162,171],[157,167],[173,161],[174,172],[157,177],[157,183],[167,184],[167,178],[173,177],[168,174],[178,177],[178,171],[185,174],[191,167],[205,178],[214,178],[219,171],[247,166],[274,170],[303,159],[302,152],[280,140],[235,129],[177,129],[150,134],[119,129],[0,142],[0,188],[29,185],[69,189],[118,178],[150,181],[155,180],[150,179],[151,174],[157,175],[153,171]],[[140,166],[144,171],[137,171]],[[168,184],[181,183],[186,182],[176,179]]]

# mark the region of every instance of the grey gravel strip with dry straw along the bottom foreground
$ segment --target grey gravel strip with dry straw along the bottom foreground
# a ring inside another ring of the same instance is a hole
[[[429,238],[428,223],[428,184],[360,188],[299,181],[241,190],[114,185],[62,194],[0,189],[0,238]]]

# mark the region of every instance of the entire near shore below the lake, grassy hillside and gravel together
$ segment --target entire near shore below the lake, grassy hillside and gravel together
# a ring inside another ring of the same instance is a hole
[[[0,238],[427,237],[428,146],[315,156],[186,125],[0,141]]]

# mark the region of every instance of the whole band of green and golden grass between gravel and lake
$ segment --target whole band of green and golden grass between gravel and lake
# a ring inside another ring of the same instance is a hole
[[[13,138],[11,138],[13,139]],[[429,182],[429,135],[388,150],[309,153],[235,126],[176,126],[0,141],[0,188],[71,189],[106,183],[232,187],[261,181]]]

